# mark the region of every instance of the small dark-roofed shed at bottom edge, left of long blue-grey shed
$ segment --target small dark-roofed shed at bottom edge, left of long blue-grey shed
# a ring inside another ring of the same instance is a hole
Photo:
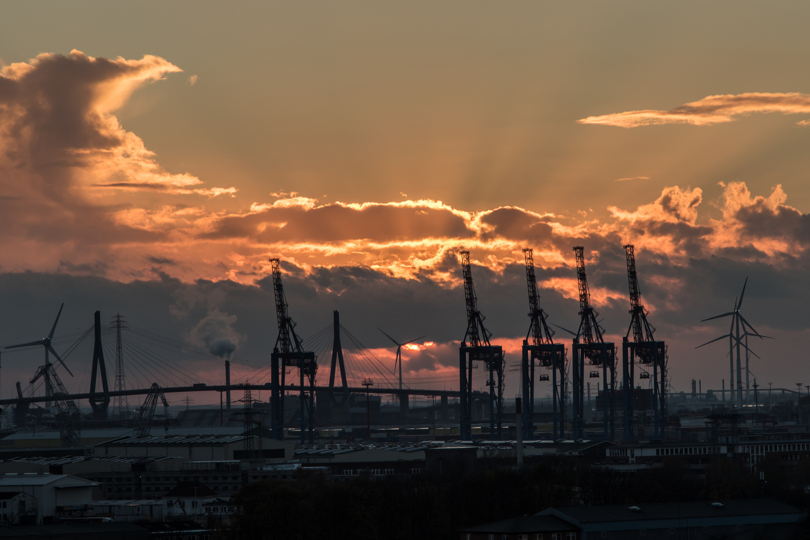
[[[494,521],[486,525],[467,527],[458,531],[459,540],[535,540],[535,538],[565,538],[576,540],[578,528],[553,516],[520,516]],[[557,536],[560,535],[560,536]],[[572,536],[573,535],[573,536]]]

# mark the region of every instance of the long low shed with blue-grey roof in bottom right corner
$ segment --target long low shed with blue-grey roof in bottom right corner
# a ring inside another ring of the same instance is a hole
[[[580,540],[722,538],[741,532],[756,536],[768,525],[804,520],[804,512],[772,499],[574,506],[547,508],[535,515],[557,517],[576,526],[582,533]]]

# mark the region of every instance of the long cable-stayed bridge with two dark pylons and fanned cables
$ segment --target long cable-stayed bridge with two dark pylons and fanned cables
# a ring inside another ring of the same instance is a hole
[[[57,322],[54,322],[53,329]],[[46,352],[45,364],[37,371],[45,372],[45,376],[32,379],[27,386],[18,382],[17,395],[0,400],[0,406],[16,406],[18,411],[26,412],[32,406],[42,407],[40,412],[51,410],[54,416],[58,416],[59,403],[79,405],[89,401],[96,403],[92,419],[123,419],[131,415],[142,400],[136,400],[137,405],[128,406],[128,410],[110,404],[126,403],[130,396],[147,396],[153,383],[158,383],[164,394],[215,392],[227,395],[228,402],[232,392],[274,390],[270,359],[265,362],[251,362],[238,356],[226,359],[228,355],[215,355],[207,348],[158,334],[132,322],[124,324],[120,315],[113,317],[109,325],[100,324],[97,315],[95,323],[86,330],[54,336],[53,329],[51,337],[47,338],[51,349]],[[313,384],[304,385],[305,388],[296,385],[297,381],[276,385],[278,393],[324,393],[339,404],[345,403],[352,393],[387,394],[399,398],[400,407],[405,409],[410,396],[441,398],[442,404],[446,404],[448,398],[459,396],[457,391],[413,388],[407,383],[400,388],[400,382],[390,367],[340,324],[337,312],[334,324],[301,342],[313,351],[318,364],[316,371],[320,373],[313,377]],[[14,346],[5,351],[6,362],[14,362],[19,356],[30,361],[32,356],[39,354],[40,346],[41,342]],[[52,362],[54,356],[58,361]],[[237,375],[233,380],[231,364]],[[328,379],[324,373],[326,369]],[[115,381],[111,381],[113,376]],[[369,378],[374,381],[372,389],[361,385]],[[223,380],[227,382],[223,384]],[[311,403],[310,400],[310,408]],[[31,421],[18,413],[18,424]]]

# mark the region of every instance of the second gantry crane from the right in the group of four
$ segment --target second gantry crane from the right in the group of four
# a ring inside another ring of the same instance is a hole
[[[585,248],[575,246],[577,260],[577,283],[579,287],[579,330],[573,339],[573,433],[582,437],[585,433],[585,364],[602,368],[602,412],[604,437],[615,436],[613,392],[616,386],[616,348],[605,342],[604,330],[599,325],[595,309],[590,305],[590,289],[585,272]],[[598,370],[589,370],[589,377],[599,378]]]

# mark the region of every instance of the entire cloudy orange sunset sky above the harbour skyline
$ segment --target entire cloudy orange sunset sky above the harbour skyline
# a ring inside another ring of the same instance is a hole
[[[0,342],[47,334],[65,302],[58,335],[120,312],[189,347],[230,340],[246,376],[275,342],[280,257],[303,337],[339,309],[392,367],[377,326],[427,334],[405,377],[451,388],[459,249],[511,363],[522,248],[575,330],[585,246],[620,342],[633,243],[676,390],[728,385],[727,346],[694,347],[727,331],[700,321],[746,277],[743,313],[776,338],[752,372],[810,384],[808,19],[802,2],[6,2]],[[41,355],[4,352],[3,397]],[[219,382],[220,364],[194,372]]]

